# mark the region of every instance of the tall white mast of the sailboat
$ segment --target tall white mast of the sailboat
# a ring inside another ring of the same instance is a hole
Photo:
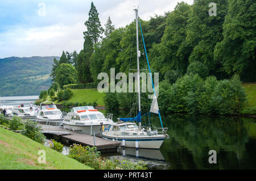
[[[141,112],[141,84],[139,75],[139,57],[141,57],[141,52],[139,51],[139,32],[138,32],[138,9],[134,10],[136,13],[136,40],[137,40],[137,66],[138,66],[138,103],[139,112]],[[139,129],[141,129],[141,122],[139,123]]]

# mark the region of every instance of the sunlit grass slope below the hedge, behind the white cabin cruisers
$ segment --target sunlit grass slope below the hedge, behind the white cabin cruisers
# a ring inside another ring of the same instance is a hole
[[[72,89],[74,95],[69,100],[63,100],[61,102],[55,102],[56,104],[67,103],[93,103],[97,102],[98,106],[104,106],[104,93],[98,92],[97,89]]]

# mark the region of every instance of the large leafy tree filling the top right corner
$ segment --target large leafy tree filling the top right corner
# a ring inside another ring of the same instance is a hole
[[[223,24],[224,39],[214,50],[214,60],[222,63],[226,73],[237,73],[246,82],[255,82],[256,79],[255,24],[255,1],[229,1]]]

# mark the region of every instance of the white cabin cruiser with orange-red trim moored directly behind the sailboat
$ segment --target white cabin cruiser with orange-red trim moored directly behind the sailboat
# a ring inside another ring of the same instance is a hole
[[[105,127],[113,123],[112,116],[113,114],[109,113],[105,117],[103,113],[94,109],[93,106],[74,107],[67,114],[63,125],[66,129],[84,134],[101,134]]]

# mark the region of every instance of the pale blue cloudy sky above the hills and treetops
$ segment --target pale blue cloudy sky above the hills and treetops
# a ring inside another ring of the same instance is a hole
[[[193,0],[183,0],[192,4]],[[0,0],[0,58],[60,56],[83,47],[84,22],[91,0]],[[149,20],[154,14],[174,10],[181,0],[93,0],[102,27],[110,16],[116,28],[139,16]]]

